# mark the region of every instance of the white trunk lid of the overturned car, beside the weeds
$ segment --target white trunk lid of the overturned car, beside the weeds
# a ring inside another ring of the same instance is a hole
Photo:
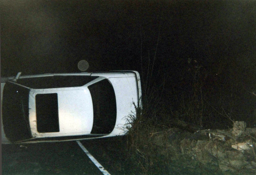
[[[117,119],[111,134],[126,132],[129,115],[135,114],[135,105],[138,105],[138,85],[136,77],[108,78],[116,96]]]

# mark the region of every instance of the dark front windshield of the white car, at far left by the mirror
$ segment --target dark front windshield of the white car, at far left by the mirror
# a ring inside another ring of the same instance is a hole
[[[7,82],[3,90],[2,120],[4,132],[11,141],[32,137],[29,125],[30,89]]]

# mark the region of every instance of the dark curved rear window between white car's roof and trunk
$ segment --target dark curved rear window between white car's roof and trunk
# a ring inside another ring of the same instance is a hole
[[[93,100],[94,122],[91,134],[109,134],[116,122],[116,98],[114,88],[107,80],[88,86]]]

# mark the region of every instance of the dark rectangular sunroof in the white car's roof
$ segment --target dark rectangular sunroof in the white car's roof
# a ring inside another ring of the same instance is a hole
[[[38,132],[59,132],[58,94],[35,95],[36,125]]]

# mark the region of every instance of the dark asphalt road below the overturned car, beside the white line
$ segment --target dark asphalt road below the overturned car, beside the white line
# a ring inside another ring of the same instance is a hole
[[[102,147],[102,144],[96,144],[102,142],[106,142],[106,140],[102,141],[100,139],[97,139],[96,141],[89,142],[82,141],[85,147],[86,145],[91,145],[91,149],[93,147],[98,147],[98,149],[104,149],[104,147]],[[92,143],[96,146],[93,146]],[[94,151],[96,150],[93,150],[93,152]],[[91,154],[93,155],[93,153]],[[109,173],[111,172],[109,171]],[[59,143],[22,144],[22,146],[2,145],[2,174],[100,175],[102,173],[87,157],[87,155],[79,147],[77,142],[72,141]]]

